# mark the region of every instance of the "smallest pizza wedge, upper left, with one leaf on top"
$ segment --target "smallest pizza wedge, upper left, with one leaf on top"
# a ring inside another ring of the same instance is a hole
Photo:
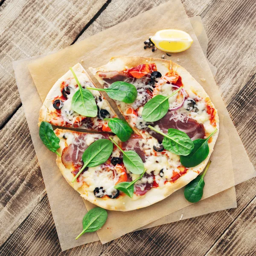
[[[83,88],[95,87],[81,64],[76,64],[73,67],[73,71]],[[117,116],[102,93],[96,90],[91,92],[94,96],[98,113],[96,117],[87,117],[79,115],[71,108],[72,97],[77,90],[79,90],[79,87],[76,79],[71,70],[69,70],[58,79],[47,94],[40,110],[39,125],[42,121],[45,121],[56,126],[82,128],[88,131],[110,131],[108,121],[104,121],[104,118]]]

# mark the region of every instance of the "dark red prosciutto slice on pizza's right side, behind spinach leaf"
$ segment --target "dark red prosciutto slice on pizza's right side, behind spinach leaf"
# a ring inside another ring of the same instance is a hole
[[[177,119],[175,113],[169,110],[162,119],[154,122],[154,125],[158,125],[160,130],[165,134],[167,134],[169,128],[174,128],[185,132],[191,140],[203,139],[205,135],[204,125],[199,124],[192,118],[186,116],[182,117],[183,118]],[[150,129],[147,128],[147,131],[149,130]],[[163,140],[163,135],[156,132],[153,132],[152,136],[159,141]]]

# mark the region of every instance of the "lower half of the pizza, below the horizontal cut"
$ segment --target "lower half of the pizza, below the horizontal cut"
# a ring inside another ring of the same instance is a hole
[[[77,131],[56,129],[60,139],[57,165],[67,182],[83,198],[99,207],[109,210],[129,211],[147,207],[171,195],[185,186],[203,170],[209,157],[200,165],[185,168],[180,157],[167,150],[157,151],[157,139],[152,136],[142,137],[132,134],[126,142],[110,134],[90,134]],[[82,154],[96,140],[110,139],[123,151],[135,151],[144,163],[146,172],[143,177],[131,173],[124,166],[123,153],[115,145],[105,163],[96,167],[85,168],[74,180],[82,166]],[[115,188],[121,182],[137,180],[131,197]],[[73,182],[72,182],[73,181]]]

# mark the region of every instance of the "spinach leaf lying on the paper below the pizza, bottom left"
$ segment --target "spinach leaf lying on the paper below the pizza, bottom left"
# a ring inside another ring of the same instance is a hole
[[[94,232],[99,230],[107,221],[108,212],[105,209],[96,207],[90,209],[84,215],[83,218],[83,231],[76,237],[76,240],[79,239],[84,233]]]

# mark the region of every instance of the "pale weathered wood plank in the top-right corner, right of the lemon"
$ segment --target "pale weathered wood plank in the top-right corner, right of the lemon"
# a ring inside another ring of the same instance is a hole
[[[209,38],[207,56],[228,105],[256,73],[256,1],[216,0],[201,18]]]

